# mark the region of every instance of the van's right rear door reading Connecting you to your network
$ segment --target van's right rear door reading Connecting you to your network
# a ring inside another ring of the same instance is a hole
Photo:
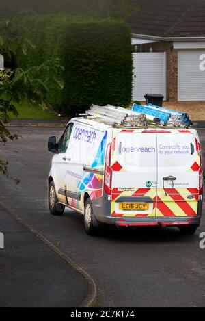
[[[200,155],[189,131],[157,133],[156,217],[197,216]]]

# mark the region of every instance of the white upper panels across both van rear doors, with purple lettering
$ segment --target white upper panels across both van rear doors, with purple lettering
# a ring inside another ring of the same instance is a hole
[[[191,133],[118,133],[116,158],[126,170],[137,167],[191,166],[196,157]]]

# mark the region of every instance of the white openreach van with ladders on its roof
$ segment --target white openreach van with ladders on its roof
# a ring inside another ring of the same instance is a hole
[[[200,142],[187,116],[177,115],[152,105],[138,112],[137,105],[92,105],[70,120],[58,142],[49,138],[51,214],[78,211],[89,235],[101,224],[195,233],[202,216]]]

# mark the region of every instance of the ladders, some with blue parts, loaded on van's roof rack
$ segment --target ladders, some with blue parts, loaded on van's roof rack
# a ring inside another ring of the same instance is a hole
[[[133,104],[131,110],[112,105],[91,105],[85,112],[113,127],[147,127],[148,125],[163,127],[189,127],[192,125],[189,115],[176,110],[148,104]]]

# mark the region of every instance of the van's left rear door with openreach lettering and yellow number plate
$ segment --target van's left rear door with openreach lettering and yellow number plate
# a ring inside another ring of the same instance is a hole
[[[156,134],[123,130],[112,145],[111,215],[155,216]]]

